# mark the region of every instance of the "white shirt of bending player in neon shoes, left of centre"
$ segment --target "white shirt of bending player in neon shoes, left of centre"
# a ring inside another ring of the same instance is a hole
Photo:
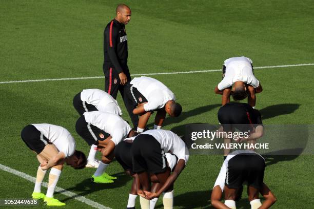
[[[125,139],[132,129],[122,117],[112,113],[93,111],[84,113],[84,117],[86,122],[110,134],[115,145]]]

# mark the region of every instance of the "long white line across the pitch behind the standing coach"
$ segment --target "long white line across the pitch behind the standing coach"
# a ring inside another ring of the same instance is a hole
[[[297,67],[297,66],[313,66],[314,63],[309,64],[297,64],[297,65],[281,65],[281,66],[262,66],[254,67],[254,69],[264,69],[264,68],[287,68],[287,67]],[[196,70],[196,71],[182,71],[182,72],[165,72],[165,73],[141,73],[132,74],[131,76],[139,75],[168,75],[168,74],[188,74],[188,73],[207,73],[221,71],[221,69],[215,70]],[[40,82],[40,81],[54,81],[54,80],[83,80],[83,79],[95,79],[104,78],[104,76],[93,76],[93,77],[77,77],[77,78],[47,78],[47,79],[36,79],[36,80],[11,80],[11,81],[1,81],[0,84],[4,83],[19,83],[19,82]]]

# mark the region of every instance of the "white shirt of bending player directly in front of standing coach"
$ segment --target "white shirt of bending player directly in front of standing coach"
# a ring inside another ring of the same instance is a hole
[[[133,78],[130,83],[147,99],[148,102],[144,104],[146,112],[163,108],[167,101],[175,101],[172,91],[159,80],[142,76]]]

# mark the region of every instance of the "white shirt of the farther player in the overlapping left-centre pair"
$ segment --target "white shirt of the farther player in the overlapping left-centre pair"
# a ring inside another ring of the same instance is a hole
[[[110,94],[100,89],[84,89],[81,92],[81,100],[95,106],[99,111],[122,115],[122,110],[117,101]]]

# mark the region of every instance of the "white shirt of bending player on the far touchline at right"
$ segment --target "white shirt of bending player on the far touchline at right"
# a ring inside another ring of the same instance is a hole
[[[225,77],[218,84],[218,89],[222,91],[232,87],[235,81],[242,81],[257,88],[260,81],[253,74],[252,63],[250,58],[244,56],[226,59],[224,62],[224,66],[226,66]]]

